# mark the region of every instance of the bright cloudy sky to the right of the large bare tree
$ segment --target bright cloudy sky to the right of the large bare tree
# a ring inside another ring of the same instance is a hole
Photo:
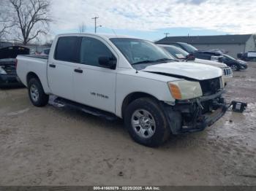
[[[256,33],[255,0],[54,0],[52,34],[98,28],[102,33],[144,39],[170,36]]]

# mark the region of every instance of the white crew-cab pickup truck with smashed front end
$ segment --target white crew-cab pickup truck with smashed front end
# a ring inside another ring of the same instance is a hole
[[[124,119],[140,144],[203,130],[227,107],[222,70],[173,61],[152,42],[128,36],[62,34],[50,55],[18,55],[17,72],[34,106],[56,103]]]

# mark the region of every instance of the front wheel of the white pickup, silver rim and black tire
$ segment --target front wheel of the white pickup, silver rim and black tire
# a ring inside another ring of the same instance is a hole
[[[147,147],[159,147],[170,136],[165,114],[157,101],[151,98],[132,101],[125,110],[124,122],[132,139]]]

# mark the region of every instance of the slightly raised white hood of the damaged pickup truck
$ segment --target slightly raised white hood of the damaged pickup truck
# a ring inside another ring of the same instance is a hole
[[[222,70],[214,66],[184,62],[159,63],[147,66],[146,69],[142,71],[197,80],[212,79],[222,76]]]

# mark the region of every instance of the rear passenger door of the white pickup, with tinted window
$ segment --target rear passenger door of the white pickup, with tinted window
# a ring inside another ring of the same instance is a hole
[[[54,95],[74,99],[73,74],[76,62],[78,62],[78,37],[59,37],[53,59],[48,63],[48,83]]]

